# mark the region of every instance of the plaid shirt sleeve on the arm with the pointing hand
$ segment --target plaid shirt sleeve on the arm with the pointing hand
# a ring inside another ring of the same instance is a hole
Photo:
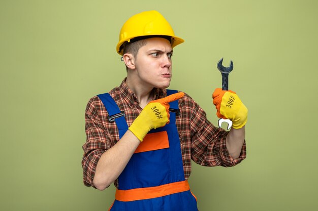
[[[83,145],[82,158],[83,182],[85,186],[93,185],[97,163],[102,154],[110,148],[110,140],[107,130],[99,116],[97,108],[101,108],[97,97],[89,100],[85,110],[86,143]],[[96,188],[96,187],[94,187]]]

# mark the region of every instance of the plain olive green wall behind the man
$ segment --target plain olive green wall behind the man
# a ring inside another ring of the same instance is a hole
[[[1,210],[107,210],[82,182],[84,110],[118,86],[115,52],[126,19],[161,12],[185,43],[172,89],[217,123],[217,61],[249,109],[247,158],[232,168],[193,164],[201,211],[316,210],[317,1],[0,1]]]

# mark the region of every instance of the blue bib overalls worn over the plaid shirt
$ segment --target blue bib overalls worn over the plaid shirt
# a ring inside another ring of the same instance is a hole
[[[175,90],[167,90],[167,95],[176,92]],[[109,116],[120,114],[117,104],[108,93],[98,95],[98,97],[102,100]],[[170,108],[177,110],[178,101],[171,102]],[[116,117],[114,121],[119,131],[119,138],[121,138],[128,130],[128,124],[124,116]],[[169,124],[166,124],[163,128],[151,130],[148,135],[158,132],[167,132],[167,142],[169,141],[169,146],[164,149],[134,153],[118,177],[118,190],[138,190],[139,188],[161,187],[182,181],[187,182],[184,179],[180,140],[176,126],[176,114],[174,112],[170,112]],[[155,138],[156,135],[153,135]],[[132,201],[120,201],[115,199],[109,210],[195,211],[198,210],[198,208],[196,198],[190,190],[186,190],[155,198]]]

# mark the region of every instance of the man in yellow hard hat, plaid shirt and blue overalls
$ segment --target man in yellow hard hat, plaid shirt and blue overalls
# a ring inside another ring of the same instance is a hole
[[[160,13],[134,15],[116,47],[127,77],[87,104],[84,184],[104,190],[114,182],[109,210],[198,210],[187,182],[191,160],[234,166],[246,156],[247,109],[234,92],[213,93],[217,115],[233,121],[227,132],[212,125],[187,94],[166,89],[173,48],[183,41]]]

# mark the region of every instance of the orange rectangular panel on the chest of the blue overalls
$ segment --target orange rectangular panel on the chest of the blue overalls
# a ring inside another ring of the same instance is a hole
[[[135,153],[169,148],[167,131],[147,134]]]

